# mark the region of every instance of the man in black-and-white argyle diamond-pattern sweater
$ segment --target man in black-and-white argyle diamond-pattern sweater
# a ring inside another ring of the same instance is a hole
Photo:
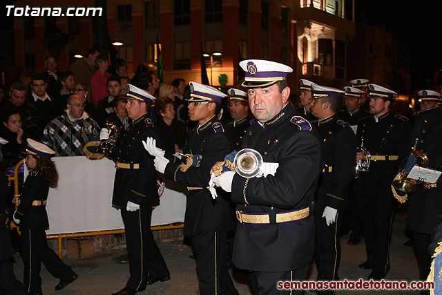
[[[84,111],[85,98],[76,94],[66,100],[66,111],[46,125],[41,142],[57,157],[84,155],[83,146],[99,133],[97,122]]]

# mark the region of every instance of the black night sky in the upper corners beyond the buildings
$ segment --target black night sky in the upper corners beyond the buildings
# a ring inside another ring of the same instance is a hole
[[[381,26],[394,32],[410,49],[412,88],[430,87],[433,72],[442,69],[442,1],[441,0],[355,0],[356,21]],[[6,17],[7,4],[0,6],[0,32],[12,33],[12,17]],[[8,38],[8,37],[7,37]],[[9,38],[8,38],[9,39]],[[5,40],[5,39],[3,39]],[[2,46],[6,44],[3,43]],[[12,44],[10,50],[12,51]]]

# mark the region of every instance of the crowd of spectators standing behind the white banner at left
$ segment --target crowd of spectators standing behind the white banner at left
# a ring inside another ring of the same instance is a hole
[[[26,138],[44,142],[57,156],[84,155],[84,145],[93,140],[107,123],[128,129],[126,112],[128,84],[132,83],[157,98],[151,117],[164,148],[173,153],[184,150],[193,128],[187,116],[184,79],[162,84],[156,73],[141,64],[128,77],[126,62],[114,64],[99,50],[90,48],[69,68],[58,68],[55,57],[46,57],[44,73],[35,73],[26,85],[22,80],[0,85],[0,136],[10,169],[21,160]],[[189,87],[187,87],[189,88]]]

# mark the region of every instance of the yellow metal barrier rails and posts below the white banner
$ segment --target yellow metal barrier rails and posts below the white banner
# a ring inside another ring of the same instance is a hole
[[[19,175],[18,175],[18,171],[19,171],[19,166],[21,164],[23,164],[23,160],[18,162],[17,165],[15,166],[14,175],[8,177],[9,183],[11,181],[14,182],[15,209],[17,209],[17,200],[18,200],[18,198],[20,196],[19,195]],[[12,220],[11,220],[10,221],[10,227],[12,229],[14,227],[17,227],[17,225],[15,225],[15,223],[12,222]],[[153,230],[153,231],[160,231],[160,230],[163,230],[163,229],[182,229],[183,227],[184,227],[184,223],[180,222],[180,225],[173,225],[173,224],[158,225],[158,226],[155,226],[155,227],[151,227],[151,230]],[[17,227],[17,232],[20,234],[19,227]],[[124,233],[125,233],[124,229],[113,229],[113,230],[108,230],[108,231],[87,231],[87,232],[82,232],[82,233],[47,235],[46,238],[48,240],[57,239],[57,241],[58,241],[58,256],[59,256],[59,258],[61,258],[61,254],[62,254],[62,251],[63,251],[61,239],[63,239],[63,238],[78,238],[78,237],[84,237],[84,236],[105,236],[105,235],[110,235],[110,234],[124,234]]]

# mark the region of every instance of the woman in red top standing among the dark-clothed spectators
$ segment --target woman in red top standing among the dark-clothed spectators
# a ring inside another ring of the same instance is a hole
[[[98,102],[104,97],[108,97],[108,77],[111,76],[106,70],[108,70],[109,61],[108,57],[99,55],[95,59],[95,68],[97,71],[90,78],[90,88],[92,89],[92,97],[95,102]]]

